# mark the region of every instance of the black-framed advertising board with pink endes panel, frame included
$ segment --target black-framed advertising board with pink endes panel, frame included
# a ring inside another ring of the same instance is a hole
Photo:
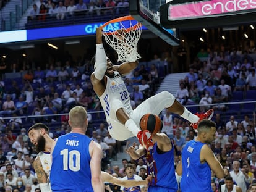
[[[173,0],[160,7],[163,27],[181,30],[255,23],[254,0]]]

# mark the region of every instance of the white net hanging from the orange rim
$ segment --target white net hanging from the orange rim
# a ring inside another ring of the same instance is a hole
[[[106,42],[117,52],[117,61],[134,62],[140,59],[140,55],[137,52],[137,43],[142,34],[142,24],[137,22],[135,25],[130,22],[130,29],[126,27],[120,21],[120,30],[114,29],[113,25],[108,25],[107,30],[103,30],[103,36]],[[114,33],[113,33],[114,31]],[[109,35],[111,33],[111,35]]]

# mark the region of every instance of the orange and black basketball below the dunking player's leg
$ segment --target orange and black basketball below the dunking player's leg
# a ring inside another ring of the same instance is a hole
[[[152,135],[161,131],[163,124],[158,115],[145,114],[140,119],[140,128],[142,131],[148,130]]]

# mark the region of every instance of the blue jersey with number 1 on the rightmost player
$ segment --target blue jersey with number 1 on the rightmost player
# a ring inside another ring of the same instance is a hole
[[[211,192],[211,169],[201,164],[200,152],[205,143],[191,140],[182,150],[182,192]]]

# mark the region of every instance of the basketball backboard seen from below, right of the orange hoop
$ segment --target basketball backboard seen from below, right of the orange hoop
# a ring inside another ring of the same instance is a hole
[[[159,7],[165,0],[130,0],[129,12],[135,20],[172,46],[179,45],[179,30],[165,28],[160,23]]]

